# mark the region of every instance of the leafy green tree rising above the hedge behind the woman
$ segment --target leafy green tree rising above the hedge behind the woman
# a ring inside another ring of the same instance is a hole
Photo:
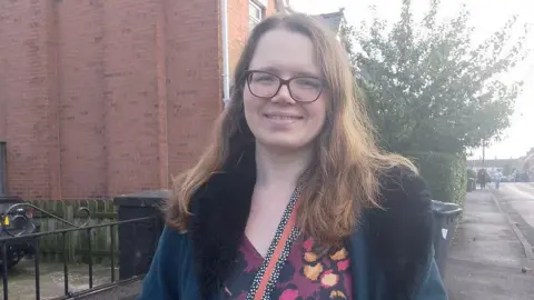
[[[511,34],[516,17],[476,46],[465,6],[437,22],[439,0],[429,1],[419,22],[403,0],[390,30],[375,17],[340,32],[380,142],[392,151],[461,152],[498,139],[521,91],[522,82],[500,80],[527,56],[526,28]]]

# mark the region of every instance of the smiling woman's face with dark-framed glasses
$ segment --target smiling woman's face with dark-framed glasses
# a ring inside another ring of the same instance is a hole
[[[284,150],[309,147],[325,123],[327,101],[309,38],[285,29],[268,31],[248,69],[243,98],[256,142]],[[284,80],[290,81],[280,86]]]

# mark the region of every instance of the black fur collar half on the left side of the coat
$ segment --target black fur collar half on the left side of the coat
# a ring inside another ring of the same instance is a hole
[[[229,276],[250,212],[256,183],[254,151],[230,162],[191,200],[189,237],[201,299],[209,299]]]

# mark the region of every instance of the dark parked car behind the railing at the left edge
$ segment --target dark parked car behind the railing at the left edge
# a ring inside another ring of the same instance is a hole
[[[10,240],[10,238],[39,231],[33,220],[34,211],[30,207],[20,206],[8,211],[18,203],[23,203],[19,197],[0,197],[0,267],[3,266],[2,246],[6,243],[8,269],[14,267],[26,256],[34,253],[30,238],[17,240]]]

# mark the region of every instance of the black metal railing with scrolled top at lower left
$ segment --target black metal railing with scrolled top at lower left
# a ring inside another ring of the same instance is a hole
[[[41,211],[42,213],[52,217],[66,224],[71,226],[71,228],[67,229],[60,229],[60,230],[55,230],[55,231],[47,231],[47,232],[36,232],[36,233],[30,233],[28,229],[23,231],[17,231],[16,233],[10,232],[7,227],[3,228],[3,232],[7,232],[10,237],[8,238],[0,238],[0,249],[1,249],[1,262],[2,262],[2,282],[3,282],[3,299],[8,300],[9,297],[9,278],[8,278],[8,247],[10,244],[17,243],[17,242],[27,242],[30,243],[33,249],[34,249],[34,256],[33,256],[33,268],[34,268],[34,282],[36,282],[36,299],[40,300],[41,294],[40,294],[40,249],[39,249],[39,240],[42,237],[46,236],[52,236],[52,234],[60,234],[61,236],[61,241],[62,241],[62,262],[63,262],[63,281],[65,281],[65,287],[63,287],[63,294],[58,294],[57,300],[59,299],[70,299],[70,298],[76,298],[82,294],[87,293],[92,293],[98,290],[103,290],[103,289],[109,289],[111,287],[118,286],[120,283],[126,283],[131,280],[137,280],[140,279],[142,276],[136,276],[129,279],[125,280],[116,280],[116,261],[115,261],[115,248],[116,248],[116,237],[115,237],[115,229],[118,228],[119,226],[122,224],[134,224],[134,223],[139,223],[139,222],[146,222],[149,220],[155,220],[158,218],[158,216],[151,216],[151,217],[144,217],[144,218],[137,218],[137,219],[130,219],[130,220],[123,220],[123,221],[116,221],[116,222],[106,222],[101,224],[93,224],[93,226],[88,226],[88,221],[82,223],[81,226],[75,224],[72,222],[69,222],[67,220],[63,220],[52,213],[49,213],[47,211],[43,211],[42,209],[34,207],[29,203],[18,203],[12,206],[8,211],[10,210],[16,210],[17,207],[21,206],[29,206],[32,207],[33,209]],[[13,208],[14,207],[14,208]],[[88,217],[90,216],[89,210],[87,208],[81,208],[81,211],[85,211]],[[28,223],[32,223],[30,220],[26,219]],[[2,222],[3,227],[3,222]],[[30,226],[31,227],[31,226]],[[110,250],[109,250],[109,257],[110,257],[110,282],[100,284],[95,287],[95,281],[93,281],[93,247],[92,247],[92,232],[96,229],[101,229],[101,228],[109,228],[109,234],[110,234]],[[134,227],[135,228],[135,227]],[[87,246],[88,246],[88,283],[89,283],[89,289],[82,290],[82,291],[77,291],[72,292],[69,289],[69,266],[68,266],[68,256],[67,256],[67,234],[69,232],[73,231],[85,231],[86,232],[86,239],[87,239]],[[120,266],[119,266],[120,267]]]

